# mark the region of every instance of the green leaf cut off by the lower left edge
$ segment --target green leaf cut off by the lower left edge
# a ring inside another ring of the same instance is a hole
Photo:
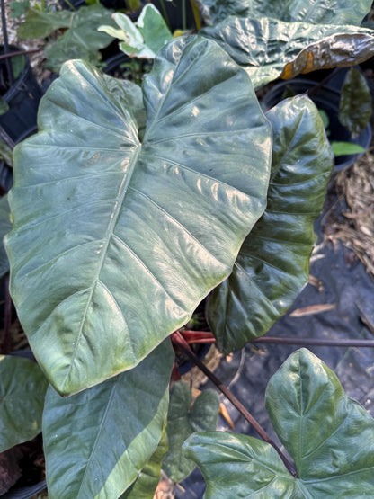
[[[47,387],[38,364],[0,355],[0,452],[41,432]]]

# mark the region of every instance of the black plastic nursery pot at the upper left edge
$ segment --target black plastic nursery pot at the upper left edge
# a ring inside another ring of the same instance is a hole
[[[22,49],[10,46],[12,52]],[[0,46],[0,54],[4,54],[4,47]],[[36,81],[27,55],[17,56],[24,60],[22,72],[16,77],[13,85],[8,82],[5,59],[0,60],[0,75],[3,77],[3,88],[6,89],[2,97],[9,106],[9,110],[0,115],[0,126],[10,138],[17,143],[20,138],[31,135],[37,124],[37,115],[42,95],[40,85]]]

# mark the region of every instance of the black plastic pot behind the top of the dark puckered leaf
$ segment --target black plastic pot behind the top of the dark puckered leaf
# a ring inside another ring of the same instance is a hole
[[[283,98],[285,91],[290,90],[293,94],[305,94],[309,89],[316,86],[316,81],[307,78],[295,78],[293,80],[285,80],[278,85],[274,85],[272,89],[263,97],[263,106],[266,109],[272,108]],[[326,112],[329,118],[329,140],[352,142],[367,149],[370,146],[371,127],[370,124],[361,132],[357,138],[352,138],[351,132],[343,127],[339,121],[339,102],[340,92],[329,86],[323,86],[316,91],[316,94],[311,95],[311,100],[316,104],[316,107]],[[334,172],[340,172],[345,168],[353,165],[353,163],[362,155],[347,155],[335,157]]]

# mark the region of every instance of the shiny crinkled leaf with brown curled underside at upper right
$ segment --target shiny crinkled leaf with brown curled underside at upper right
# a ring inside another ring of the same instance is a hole
[[[245,67],[255,88],[280,76],[354,66],[374,51],[374,31],[349,25],[229,17],[200,34],[216,40]]]

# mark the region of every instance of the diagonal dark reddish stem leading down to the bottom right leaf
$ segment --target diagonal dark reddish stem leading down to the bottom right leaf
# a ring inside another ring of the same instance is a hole
[[[292,475],[292,477],[297,477],[296,471],[291,466],[286,456],[281,452],[277,444],[272,441],[272,438],[267,434],[267,432],[263,430],[263,427],[259,423],[257,423],[257,421],[254,419],[254,416],[245,409],[245,406],[235,397],[235,395],[232,394],[230,390],[225,387],[225,385],[211,372],[211,370],[209,370],[207,366],[200,361],[200,359],[191,350],[190,345],[185,341],[183,335],[179,331],[176,331],[174,334],[172,334],[172,341],[176,346],[178,346],[178,348],[183,350],[183,352],[191,359],[192,362],[194,362],[198,366],[200,370],[202,370],[202,372],[206,376],[208,376],[210,381],[212,381],[212,383],[216,385],[216,387],[225,395],[225,397],[228,398],[231,404],[236,407],[239,413],[245,417],[246,421],[251,424],[255,432],[259,434],[263,441],[266,441],[267,443],[272,445],[272,447],[278,452],[280,459],[283,461],[284,466],[289,470],[289,473]]]

